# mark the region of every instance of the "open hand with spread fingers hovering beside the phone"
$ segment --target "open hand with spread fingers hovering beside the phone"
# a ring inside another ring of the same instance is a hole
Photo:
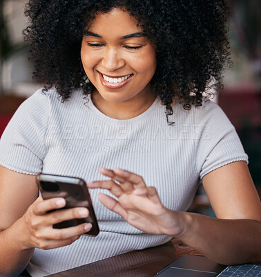
[[[162,205],[157,190],[147,187],[141,176],[126,170],[100,168],[102,175],[110,177],[108,181],[93,181],[88,188],[105,188],[117,199],[99,193],[99,201],[110,211],[118,213],[131,225],[145,233],[171,235],[180,233],[178,216]],[[119,182],[117,184],[115,181]]]

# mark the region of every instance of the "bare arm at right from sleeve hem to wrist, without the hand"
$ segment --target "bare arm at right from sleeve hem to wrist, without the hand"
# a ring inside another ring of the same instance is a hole
[[[261,262],[261,202],[247,163],[229,163],[202,181],[218,219],[191,217],[186,243],[220,263]]]

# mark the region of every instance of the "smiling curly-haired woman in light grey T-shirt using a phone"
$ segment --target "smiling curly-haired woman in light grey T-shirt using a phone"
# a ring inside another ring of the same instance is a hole
[[[26,38],[46,85],[0,143],[1,275],[45,276],[173,237],[226,265],[260,261],[247,155],[202,96],[222,86],[225,11],[224,1],[30,1]],[[81,235],[90,224],[52,229],[88,210],[48,213],[65,202],[38,197],[39,172],[86,180],[97,237]],[[199,178],[217,219],[186,213]]]

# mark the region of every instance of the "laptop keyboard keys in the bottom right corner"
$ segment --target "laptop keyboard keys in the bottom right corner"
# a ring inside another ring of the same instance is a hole
[[[219,276],[238,276],[238,277],[261,277],[261,265],[230,265],[226,267]]]

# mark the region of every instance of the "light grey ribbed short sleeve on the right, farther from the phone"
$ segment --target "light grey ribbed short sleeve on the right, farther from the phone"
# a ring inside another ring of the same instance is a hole
[[[196,168],[200,179],[234,161],[247,161],[242,143],[224,111],[212,101],[195,108]]]

